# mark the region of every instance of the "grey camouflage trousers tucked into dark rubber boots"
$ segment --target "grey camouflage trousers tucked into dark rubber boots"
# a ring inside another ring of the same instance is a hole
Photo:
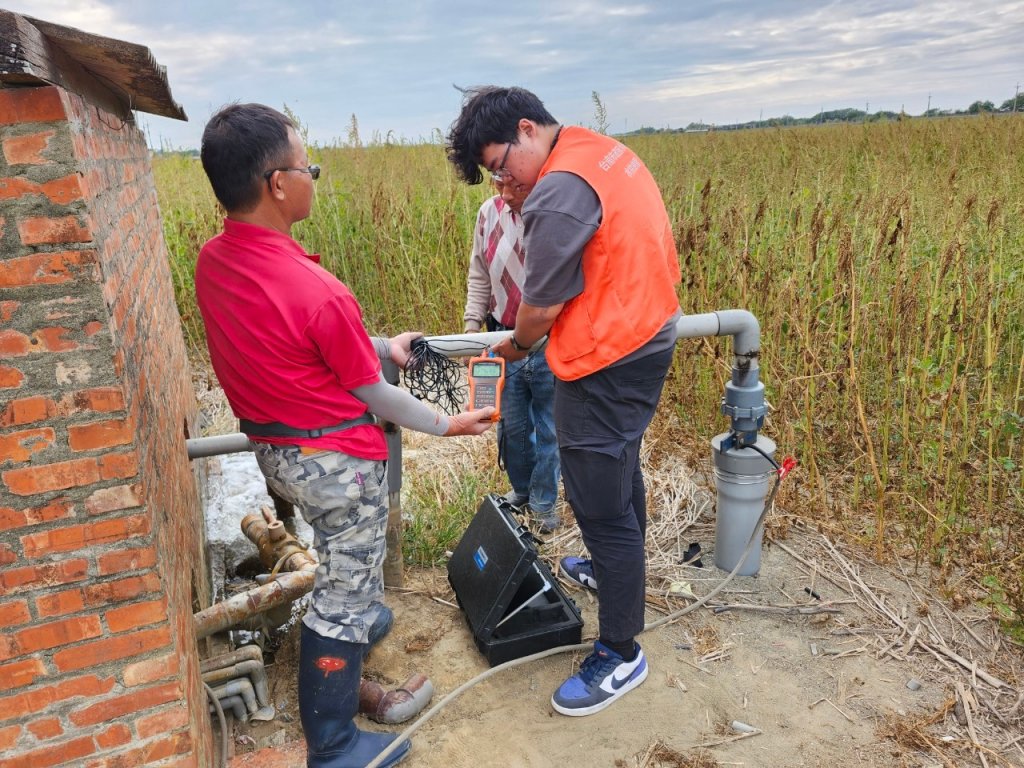
[[[334,451],[308,454],[296,445],[252,445],[267,484],[298,507],[313,529],[319,567],[303,623],[324,637],[367,642],[384,610],[384,462]]]

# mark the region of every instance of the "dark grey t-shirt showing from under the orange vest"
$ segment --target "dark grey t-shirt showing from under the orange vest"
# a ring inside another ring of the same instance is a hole
[[[542,178],[522,206],[526,274],[522,300],[534,306],[561,304],[583,293],[583,251],[601,225],[601,200],[580,176],[553,171]],[[629,362],[676,343],[670,317],[654,338],[613,365]]]

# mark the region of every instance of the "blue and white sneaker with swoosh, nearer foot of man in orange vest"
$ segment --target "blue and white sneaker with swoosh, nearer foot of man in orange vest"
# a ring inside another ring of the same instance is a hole
[[[594,652],[580,665],[580,671],[559,686],[551,697],[555,712],[583,717],[600,712],[647,679],[647,659],[637,644],[632,662],[603,645],[594,643]]]

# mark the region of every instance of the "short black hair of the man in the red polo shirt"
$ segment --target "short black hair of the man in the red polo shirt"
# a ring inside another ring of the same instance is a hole
[[[263,173],[288,159],[288,129],[295,124],[265,104],[222,106],[203,130],[200,158],[213,194],[226,211],[251,211]]]

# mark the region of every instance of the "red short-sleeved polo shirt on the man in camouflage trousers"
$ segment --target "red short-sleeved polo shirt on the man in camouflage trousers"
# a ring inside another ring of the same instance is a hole
[[[349,390],[381,364],[352,292],[286,234],[233,219],[196,264],[196,298],[210,361],[240,419],[315,429],[354,419]],[[386,459],[384,433],[361,425],[315,439],[261,437],[362,459]]]

